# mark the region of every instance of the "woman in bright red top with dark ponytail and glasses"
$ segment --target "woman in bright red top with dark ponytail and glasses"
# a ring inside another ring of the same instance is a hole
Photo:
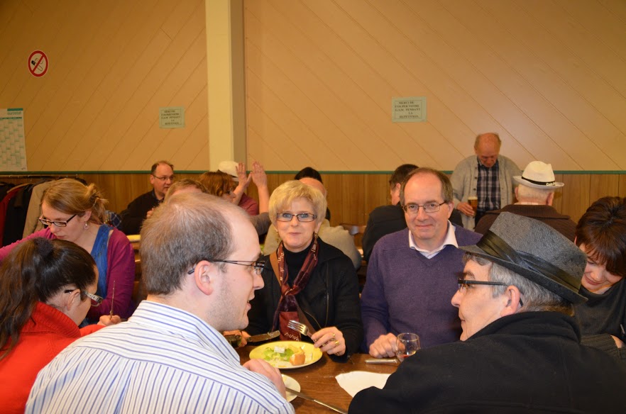
[[[102,298],[98,272],[82,247],[36,237],[21,243],[0,267],[0,401],[3,413],[23,413],[37,373],[71,342],[119,323],[78,324]]]

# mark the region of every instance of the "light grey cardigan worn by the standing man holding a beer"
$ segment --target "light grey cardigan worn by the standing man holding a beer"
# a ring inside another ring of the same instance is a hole
[[[498,156],[498,181],[500,181],[500,208],[513,203],[515,181],[513,176],[522,175],[522,171],[504,155]],[[478,185],[478,157],[472,155],[459,162],[450,178],[454,192],[454,207],[461,201],[467,203],[468,196],[476,196]],[[473,230],[476,223],[473,217],[461,213],[463,227]]]

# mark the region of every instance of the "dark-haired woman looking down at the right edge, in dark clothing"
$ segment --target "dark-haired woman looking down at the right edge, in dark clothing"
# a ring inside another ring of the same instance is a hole
[[[576,225],[575,242],[587,254],[580,293],[588,301],[576,306],[575,317],[583,335],[593,336],[583,340],[616,354],[626,342],[626,199],[591,204]]]

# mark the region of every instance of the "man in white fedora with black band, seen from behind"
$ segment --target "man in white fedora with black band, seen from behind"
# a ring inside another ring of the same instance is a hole
[[[541,161],[530,162],[521,176],[513,177],[519,186],[515,188],[517,203],[500,210],[488,211],[476,225],[476,233],[485,234],[500,213],[507,211],[519,216],[534,218],[546,223],[569,240],[574,240],[576,223],[569,216],[559,214],[554,207],[554,191],[565,184],[555,181],[552,165]]]

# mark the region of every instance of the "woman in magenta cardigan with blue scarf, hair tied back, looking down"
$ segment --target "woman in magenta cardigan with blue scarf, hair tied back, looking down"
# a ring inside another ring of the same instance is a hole
[[[87,250],[100,274],[96,294],[104,298],[100,306],[87,313],[87,319],[93,323],[101,315],[108,315],[111,306],[113,313],[121,318],[128,318],[134,310],[131,295],[135,254],[126,235],[102,224],[104,203],[106,200],[94,184],[85,186],[75,179],[55,181],[41,199],[39,220],[48,227],[0,249],[0,262],[13,247],[34,237],[67,240]]]

